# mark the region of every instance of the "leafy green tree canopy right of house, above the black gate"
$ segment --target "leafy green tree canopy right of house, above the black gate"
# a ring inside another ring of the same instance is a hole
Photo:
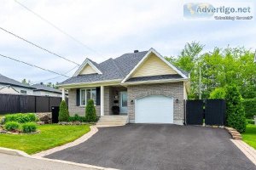
[[[201,67],[201,93],[208,99],[215,88],[236,84],[244,99],[256,98],[256,64],[254,53],[246,48],[214,48],[202,53],[200,42],[187,43],[177,57],[166,59],[190,73],[189,99],[199,98],[199,68]]]

